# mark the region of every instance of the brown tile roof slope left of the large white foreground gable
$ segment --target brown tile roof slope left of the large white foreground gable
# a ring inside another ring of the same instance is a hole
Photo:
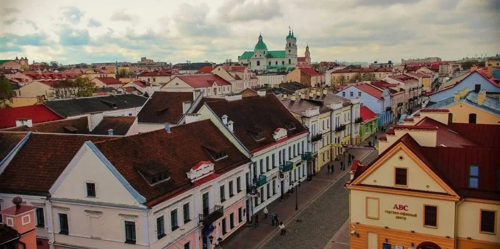
[[[85,141],[112,138],[32,133],[0,174],[0,192],[46,195]]]

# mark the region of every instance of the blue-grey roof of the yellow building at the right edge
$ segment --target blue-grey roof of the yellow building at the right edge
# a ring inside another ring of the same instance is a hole
[[[466,102],[467,104],[473,105],[479,109],[488,111],[490,113],[500,115],[500,100],[496,97],[491,97],[486,95],[484,102],[482,105],[477,104],[477,92],[469,91],[467,95],[460,99],[458,102]],[[425,106],[426,109],[443,109],[446,106],[454,103],[454,96],[447,97],[439,102],[436,102],[432,105]]]

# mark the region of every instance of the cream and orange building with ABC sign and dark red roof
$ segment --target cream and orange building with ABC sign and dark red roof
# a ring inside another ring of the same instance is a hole
[[[394,126],[377,159],[351,172],[350,248],[500,247],[500,148],[480,137],[500,131],[467,123],[459,133],[447,114],[421,110]]]

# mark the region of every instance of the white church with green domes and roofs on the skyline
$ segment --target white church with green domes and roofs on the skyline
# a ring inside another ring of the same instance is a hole
[[[260,34],[253,51],[244,51],[238,56],[238,62],[253,70],[294,67],[297,64],[297,38],[295,38],[293,30],[288,29],[285,49],[267,50],[262,34]]]

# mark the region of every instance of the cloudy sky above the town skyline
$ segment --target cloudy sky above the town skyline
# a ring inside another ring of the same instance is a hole
[[[396,3],[399,2],[399,3]],[[233,61],[288,26],[312,61],[500,52],[498,0],[0,0],[0,59]]]

